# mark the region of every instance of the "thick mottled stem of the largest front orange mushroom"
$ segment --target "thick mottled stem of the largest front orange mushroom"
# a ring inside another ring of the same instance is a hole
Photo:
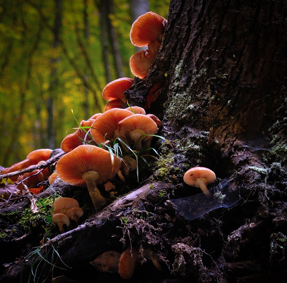
[[[88,191],[95,209],[101,208],[104,204],[107,203],[107,200],[101,195],[95,183],[95,181],[99,179],[99,174],[96,171],[88,171],[82,175],[82,178],[87,184]]]

